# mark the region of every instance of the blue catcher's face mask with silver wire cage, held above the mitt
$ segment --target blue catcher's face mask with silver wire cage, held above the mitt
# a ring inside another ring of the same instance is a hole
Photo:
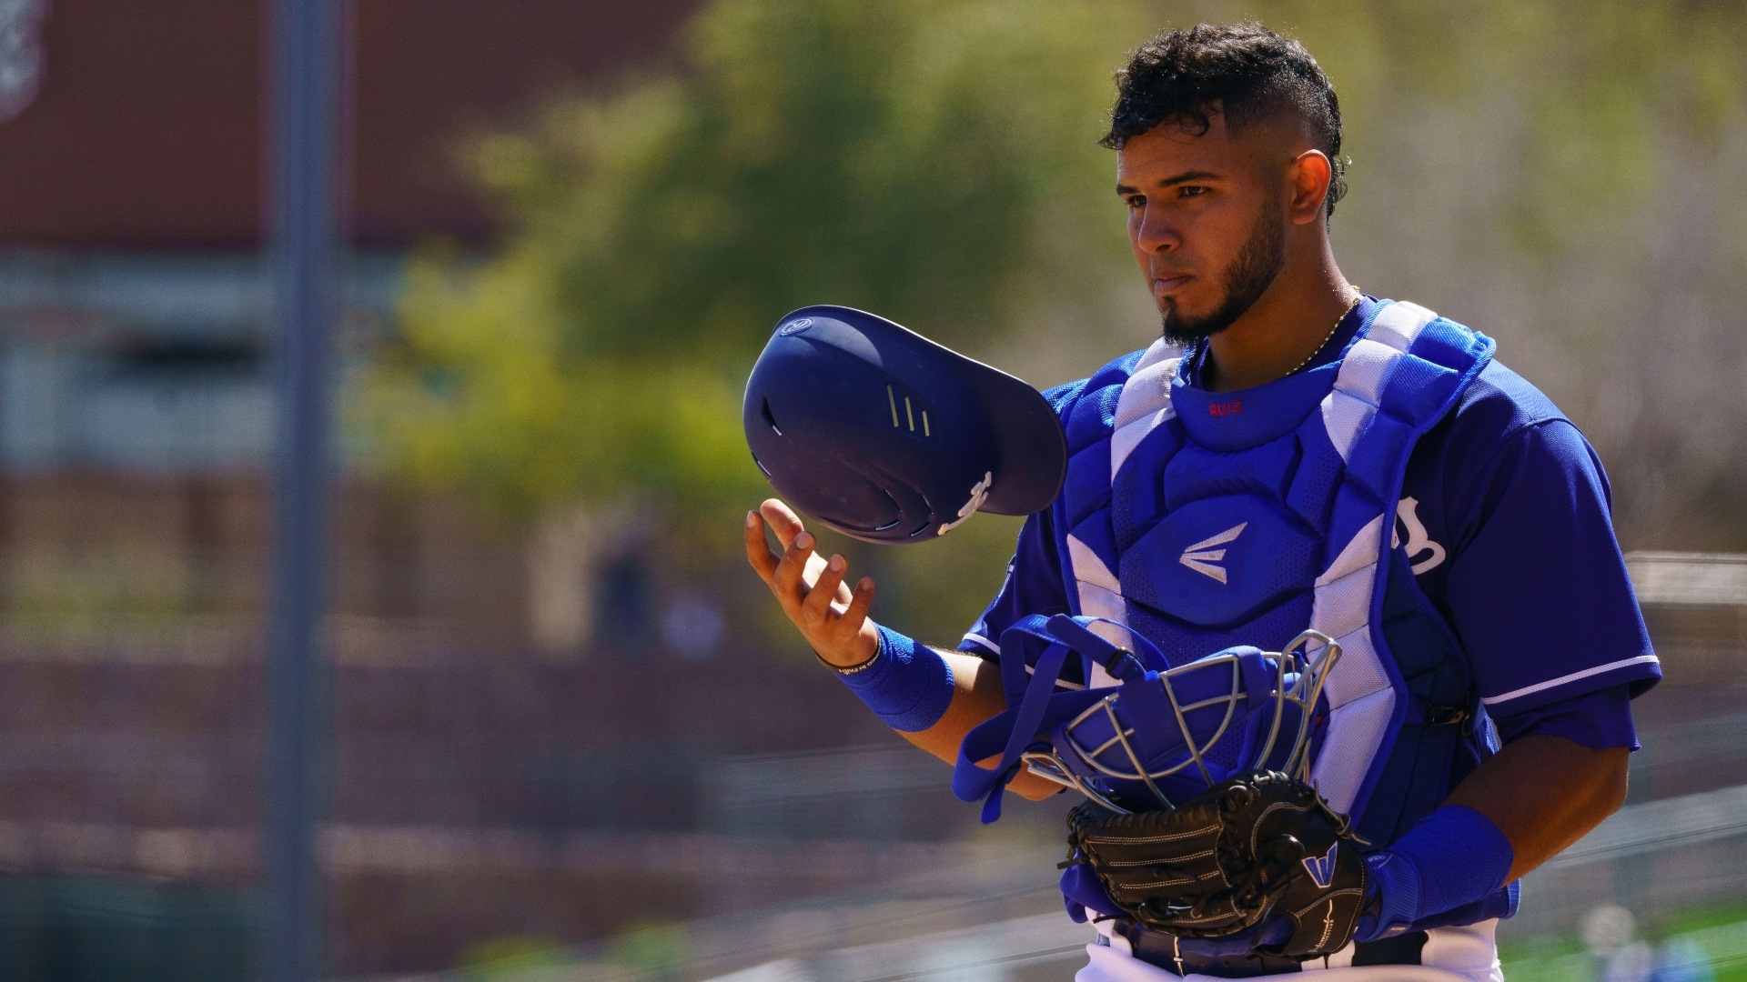
[[[1169,667],[1158,648],[1122,626],[1137,650],[1092,633],[1097,620],[1025,617],[1001,634],[1012,708],[966,736],[954,776],[961,797],[994,792],[985,821],[999,814],[999,788],[1019,767],[1122,814],[1176,807],[1246,771],[1309,781],[1338,641],[1305,631],[1281,652],[1237,647]],[[1090,657],[1120,685],[1057,692],[1066,654]],[[996,739],[1006,753],[992,772],[971,764],[978,779],[966,764],[1001,750]]]

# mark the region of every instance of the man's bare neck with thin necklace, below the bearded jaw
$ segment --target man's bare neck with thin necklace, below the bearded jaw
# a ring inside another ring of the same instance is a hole
[[[1324,238],[1315,262],[1291,262],[1244,316],[1207,339],[1200,383],[1235,391],[1286,377],[1322,348],[1356,290]],[[1307,257],[1309,259],[1309,257]],[[1296,269],[1295,269],[1296,266]]]

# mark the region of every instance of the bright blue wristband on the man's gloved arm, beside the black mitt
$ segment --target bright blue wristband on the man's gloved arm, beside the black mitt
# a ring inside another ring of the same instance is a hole
[[[1464,806],[1445,806],[1387,849],[1364,858],[1377,891],[1375,916],[1359,921],[1357,940],[1373,942],[1499,891],[1516,851],[1492,819]]]

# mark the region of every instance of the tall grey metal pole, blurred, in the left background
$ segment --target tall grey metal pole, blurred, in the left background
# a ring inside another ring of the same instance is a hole
[[[321,662],[328,491],[328,363],[335,315],[335,0],[273,0],[273,199],[278,446],[262,851],[266,970],[321,975],[318,819],[327,788]]]

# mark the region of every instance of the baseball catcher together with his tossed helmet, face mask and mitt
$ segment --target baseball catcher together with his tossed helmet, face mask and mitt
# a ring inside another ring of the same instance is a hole
[[[1153,38],[1102,143],[1162,337],[1039,393],[795,311],[746,390],[786,500],[748,561],[984,821],[1080,799],[1078,982],[1502,982],[1518,879],[1625,800],[1660,678],[1600,461],[1492,339],[1345,280],[1340,105],[1300,44]],[[879,543],[1027,517],[945,650],[875,624],[795,508]]]

